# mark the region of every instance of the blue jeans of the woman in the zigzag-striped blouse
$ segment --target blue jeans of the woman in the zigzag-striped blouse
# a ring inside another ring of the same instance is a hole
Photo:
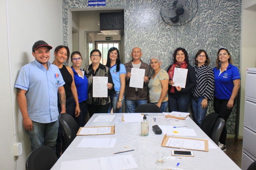
[[[195,121],[196,124],[200,127],[202,120],[205,118],[207,109],[209,106],[209,100],[207,101],[207,107],[205,109],[202,108],[201,102],[203,100],[203,97],[194,97],[191,96],[191,104],[192,104],[192,109],[193,113],[195,116]]]

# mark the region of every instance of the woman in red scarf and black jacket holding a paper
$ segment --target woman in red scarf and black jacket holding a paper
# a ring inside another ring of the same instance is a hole
[[[186,86],[181,88],[173,82],[174,68],[188,69]],[[184,48],[177,48],[173,53],[173,64],[167,69],[169,74],[169,112],[187,112],[190,101],[191,90],[197,84],[196,73],[193,67],[189,64],[188,53]]]

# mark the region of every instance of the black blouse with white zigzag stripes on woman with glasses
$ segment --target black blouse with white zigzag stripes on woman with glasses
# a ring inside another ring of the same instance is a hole
[[[193,96],[202,96],[203,98],[212,100],[214,92],[214,74],[212,68],[204,64],[200,67],[194,66],[194,69],[197,77],[197,85],[192,89]]]

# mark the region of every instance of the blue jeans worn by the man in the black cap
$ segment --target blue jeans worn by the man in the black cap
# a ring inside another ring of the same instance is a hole
[[[59,120],[51,123],[39,123],[32,120],[32,123],[33,130],[29,132],[31,151],[41,146],[48,146],[55,152]]]

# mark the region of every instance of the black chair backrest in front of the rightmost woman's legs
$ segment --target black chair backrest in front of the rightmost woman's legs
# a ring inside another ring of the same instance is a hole
[[[216,145],[218,145],[219,138],[221,137],[221,133],[224,129],[224,125],[225,125],[224,119],[221,117],[217,118],[210,136],[210,138],[214,141]]]

